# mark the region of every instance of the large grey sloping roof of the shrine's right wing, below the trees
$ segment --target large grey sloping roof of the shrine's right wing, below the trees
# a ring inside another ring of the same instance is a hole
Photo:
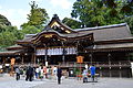
[[[94,41],[111,41],[132,37],[126,23],[113,24],[106,26],[95,26],[85,29],[75,29],[79,33],[93,33]]]

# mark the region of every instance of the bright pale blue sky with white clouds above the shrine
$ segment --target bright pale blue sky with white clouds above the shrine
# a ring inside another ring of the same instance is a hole
[[[45,9],[50,19],[58,14],[62,20],[71,18],[72,6],[76,0],[0,0],[0,14],[4,15],[12,25],[20,28],[30,13],[31,1],[35,1],[39,8]]]

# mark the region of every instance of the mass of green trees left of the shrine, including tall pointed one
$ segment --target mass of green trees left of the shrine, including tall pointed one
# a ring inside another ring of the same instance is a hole
[[[43,29],[49,16],[45,9],[38,8],[34,1],[30,3],[31,10],[28,22],[23,23],[22,30],[11,26],[8,19],[0,14],[0,48],[14,45],[17,40],[22,40],[24,34],[34,34]]]

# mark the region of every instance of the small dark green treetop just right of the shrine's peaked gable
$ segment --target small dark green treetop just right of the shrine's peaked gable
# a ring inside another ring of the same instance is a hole
[[[73,19],[70,19],[70,18],[64,18],[62,20],[62,22],[64,24],[66,24],[68,26],[70,26],[71,29],[80,29],[82,23],[76,21],[76,20],[73,20]]]

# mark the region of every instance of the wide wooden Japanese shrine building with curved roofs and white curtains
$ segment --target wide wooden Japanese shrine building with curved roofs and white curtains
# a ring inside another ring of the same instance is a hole
[[[76,56],[83,56],[81,67],[96,66],[101,77],[132,77],[133,36],[126,23],[74,29],[66,26],[54,14],[42,32],[27,34],[17,45],[0,52],[0,63],[27,65],[60,65],[72,72],[79,68]]]

